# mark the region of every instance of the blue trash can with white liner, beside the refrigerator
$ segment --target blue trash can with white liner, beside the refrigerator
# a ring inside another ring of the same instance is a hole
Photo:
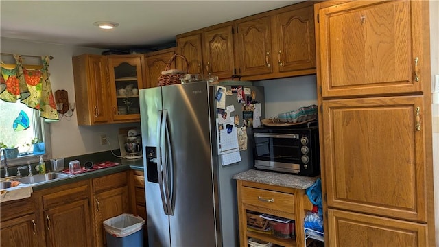
[[[122,213],[104,220],[108,247],[143,246],[143,225],[145,220],[139,216]]]

